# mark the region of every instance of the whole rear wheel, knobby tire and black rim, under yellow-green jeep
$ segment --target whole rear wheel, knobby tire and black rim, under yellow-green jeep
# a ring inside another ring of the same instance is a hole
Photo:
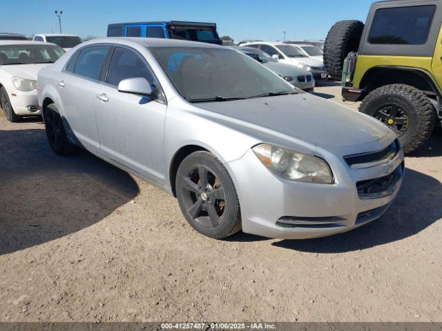
[[[359,111],[390,126],[398,134],[405,154],[421,147],[434,129],[436,112],[432,102],[412,86],[378,88],[365,97]]]

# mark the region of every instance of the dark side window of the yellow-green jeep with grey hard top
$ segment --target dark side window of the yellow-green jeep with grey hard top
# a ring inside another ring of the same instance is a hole
[[[369,43],[423,45],[427,42],[436,6],[376,10]]]

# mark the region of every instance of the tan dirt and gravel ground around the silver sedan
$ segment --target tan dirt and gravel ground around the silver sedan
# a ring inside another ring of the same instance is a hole
[[[2,113],[0,321],[442,321],[441,130],[406,165],[358,230],[215,241],[173,197]]]

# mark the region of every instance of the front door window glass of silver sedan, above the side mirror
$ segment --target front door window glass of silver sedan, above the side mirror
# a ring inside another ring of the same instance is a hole
[[[126,48],[116,48],[109,64],[106,83],[118,86],[123,79],[133,77],[144,77],[149,83],[153,83],[151,69],[139,55]]]

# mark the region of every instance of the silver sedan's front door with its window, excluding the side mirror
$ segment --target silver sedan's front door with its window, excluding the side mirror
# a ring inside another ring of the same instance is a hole
[[[151,100],[118,92],[122,79],[144,77],[161,89],[148,63],[132,48],[118,46],[107,70],[106,83],[95,99],[101,154],[157,183],[164,181],[164,98]]]

